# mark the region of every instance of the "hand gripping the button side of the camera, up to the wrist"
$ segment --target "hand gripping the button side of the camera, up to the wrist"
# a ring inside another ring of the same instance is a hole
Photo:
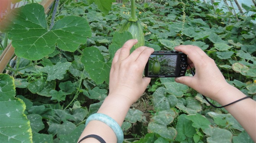
[[[218,92],[230,84],[227,83],[214,60],[197,46],[180,45],[175,47],[175,50],[188,55],[188,64],[196,71],[193,77],[181,76],[175,78],[175,81],[190,86],[213,100],[221,98],[218,97]]]

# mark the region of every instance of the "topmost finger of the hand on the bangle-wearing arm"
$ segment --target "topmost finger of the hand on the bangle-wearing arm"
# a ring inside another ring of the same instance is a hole
[[[134,44],[138,42],[137,39],[131,39],[125,42],[123,44],[123,47],[121,48],[121,52],[119,55],[119,61],[126,59],[130,55],[130,49],[133,47]]]

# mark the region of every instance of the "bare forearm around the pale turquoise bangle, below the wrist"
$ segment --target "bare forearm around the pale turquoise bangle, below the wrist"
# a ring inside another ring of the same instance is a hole
[[[122,126],[122,123],[125,119],[125,116],[130,108],[130,101],[126,99],[126,97],[115,96],[112,97],[109,95],[102,105],[100,106],[97,113],[102,113],[110,116],[114,119],[119,126]],[[107,126],[105,123],[101,121],[91,121],[87,124],[86,128],[84,129],[81,138],[85,137],[86,135],[96,134],[102,137],[107,143],[108,142],[117,142],[117,138],[113,130]],[[83,141],[83,143],[89,142],[98,142],[95,138],[87,138]]]

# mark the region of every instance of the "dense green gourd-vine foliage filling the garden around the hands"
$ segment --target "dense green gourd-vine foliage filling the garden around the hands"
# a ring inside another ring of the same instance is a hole
[[[3,137],[16,139],[11,126],[3,124],[9,122],[9,118],[3,118],[10,116],[7,110],[16,108],[21,108],[17,116],[23,116],[24,124],[28,122],[24,114],[30,122],[30,126],[25,126],[29,129],[21,132],[28,131],[31,135],[32,130],[33,142],[78,140],[86,118],[98,110],[108,94],[115,51],[133,38],[129,32],[117,32],[130,17],[129,5],[109,4],[112,1],[102,4],[103,1],[94,0],[88,3],[61,0],[52,29],[48,28],[52,13],[45,16],[39,4],[19,8],[23,11],[20,17],[7,16],[3,22],[7,27],[1,32],[8,33],[13,40],[18,58],[15,67],[6,68],[13,78],[0,75],[0,142],[6,141]],[[199,46],[215,60],[228,83],[256,100],[256,24],[252,22],[256,18],[255,6],[243,5],[247,12],[254,12],[251,16],[234,16],[222,8],[191,0],[185,5],[185,23],[181,2],[166,0],[136,6],[146,46],[155,50],[172,50],[179,44]],[[23,48],[27,45],[31,46]],[[189,70],[186,75],[190,75]],[[5,88],[12,93],[6,94]],[[6,113],[2,114],[3,96],[7,95],[11,98],[8,104],[19,102],[4,108]],[[26,105],[24,111],[20,99]],[[10,118],[10,121],[15,120]],[[152,78],[144,95],[129,110],[122,129],[125,142],[253,142],[224,108],[209,106],[202,95],[173,78]]]

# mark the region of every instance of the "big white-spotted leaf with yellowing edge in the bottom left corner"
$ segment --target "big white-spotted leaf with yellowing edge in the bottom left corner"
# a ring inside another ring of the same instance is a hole
[[[30,122],[23,100],[15,97],[14,79],[0,74],[0,142],[32,143]]]

